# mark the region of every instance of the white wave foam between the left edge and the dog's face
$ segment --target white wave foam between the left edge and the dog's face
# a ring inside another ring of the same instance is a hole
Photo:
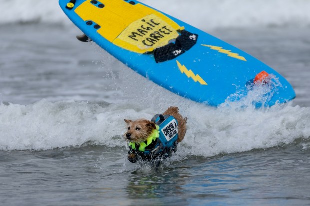
[[[119,116],[126,114],[124,110],[105,102],[1,104],[0,150],[48,150],[89,141],[121,146],[124,143],[117,135],[123,130]]]

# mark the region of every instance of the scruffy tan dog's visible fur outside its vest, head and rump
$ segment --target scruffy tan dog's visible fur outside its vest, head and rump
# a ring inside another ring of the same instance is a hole
[[[178,138],[177,142],[181,142],[186,134],[186,123],[187,117],[183,118],[183,116],[179,113],[178,107],[172,106],[169,107],[163,115],[171,115],[173,116],[178,123]],[[152,132],[156,129],[155,122],[149,121],[147,119],[138,119],[135,121],[124,119],[127,123],[128,130],[124,134],[124,138],[126,141],[133,142],[136,144],[140,144],[145,142],[146,139],[152,134]],[[158,127],[158,126],[157,126]],[[131,161],[135,159],[134,153],[129,153],[128,159]],[[132,162],[132,161],[131,161]]]

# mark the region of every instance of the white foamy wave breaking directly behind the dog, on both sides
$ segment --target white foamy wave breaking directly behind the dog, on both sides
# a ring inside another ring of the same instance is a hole
[[[173,156],[175,159],[269,148],[310,136],[310,108],[289,104],[258,110],[185,105],[178,104],[180,112],[188,117],[188,129]],[[123,119],[151,119],[160,112],[128,103],[47,100],[27,106],[2,103],[0,150],[48,150],[85,143],[125,149]]]

